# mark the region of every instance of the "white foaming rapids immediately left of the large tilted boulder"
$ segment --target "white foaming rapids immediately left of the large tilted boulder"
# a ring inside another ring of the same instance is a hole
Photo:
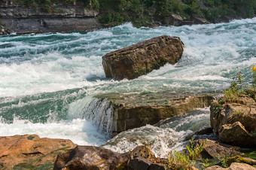
[[[66,59],[51,53],[20,64],[1,64],[0,96],[20,96],[99,85],[105,77],[101,56]]]

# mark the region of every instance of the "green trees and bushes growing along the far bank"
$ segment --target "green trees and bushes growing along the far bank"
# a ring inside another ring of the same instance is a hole
[[[255,0],[14,0],[35,11],[53,11],[53,2],[84,2],[85,7],[99,11],[99,21],[109,26],[133,22],[149,26],[152,21],[165,23],[172,14],[190,20],[193,14],[202,15],[212,23],[224,17],[254,17]],[[169,24],[168,22],[166,24]]]

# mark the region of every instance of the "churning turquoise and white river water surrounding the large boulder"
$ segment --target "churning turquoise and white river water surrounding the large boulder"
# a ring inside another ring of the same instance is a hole
[[[177,64],[164,65],[135,80],[105,78],[102,68],[105,53],[160,35],[178,36],[184,42],[184,53]],[[178,94],[224,90],[237,71],[242,71],[250,83],[255,56],[256,18],[153,29],[137,29],[126,23],[94,32],[1,36],[0,135],[38,134],[69,138],[76,144],[100,145],[108,140],[108,134],[100,128],[111,123],[108,120],[111,115],[90,117],[90,108],[98,112],[110,109],[99,105],[93,96],[113,92]],[[149,141],[158,140],[157,135],[172,133],[166,139],[171,146],[166,142],[162,145],[175,148],[194,123],[202,119],[209,123],[209,108],[206,110],[198,111],[197,117],[190,119],[181,117],[180,123],[190,122],[187,123],[190,126],[181,130],[178,125],[145,126],[126,133],[137,133]],[[154,135],[148,137],[148,132]],[[123,138],[123,133],[116,138]],[[120,141],[126,143],[115,142],[118,148],[114,150],[142,143]]]

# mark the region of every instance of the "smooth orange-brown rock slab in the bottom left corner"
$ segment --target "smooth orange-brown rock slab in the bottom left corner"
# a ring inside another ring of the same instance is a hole
[[[0,137],[0,169],[48,169],[58,153],[75,147],[70,140],[38,135]]]

